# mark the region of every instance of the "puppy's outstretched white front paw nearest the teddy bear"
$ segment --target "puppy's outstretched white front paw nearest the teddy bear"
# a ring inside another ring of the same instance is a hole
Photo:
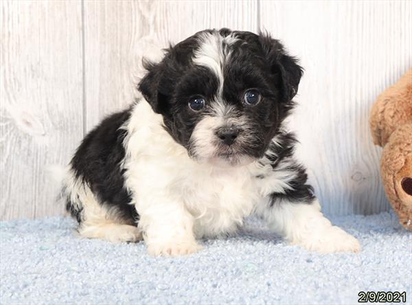
[[[356,253],[361,251],[361,244],[359,244],[358,240],[336,226],[325,228],[318,234],[312,234],[310,237],[304,238],[296,243],[305,247],[309,251],[316,251],[319,253]]]

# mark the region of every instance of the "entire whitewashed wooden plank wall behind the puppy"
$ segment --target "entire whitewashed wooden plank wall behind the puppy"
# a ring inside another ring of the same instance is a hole
[[[412,1],[2,1],[0,219],[62,212],[65,165],[105,115],[133,101],[141,58],[198,30],[266,29],[306,69],[290,121],[328,214],[389,208],[374,99],[412,66]]]

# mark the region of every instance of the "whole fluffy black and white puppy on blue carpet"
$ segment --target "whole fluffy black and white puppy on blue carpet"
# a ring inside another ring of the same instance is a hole
[[[284,119],[302,69],[266,34],[204,30],[146,63],[143,98],[107,117],[71,160],[64,194],[79,233],[144,238],[149,253],[200,249],[257,215],[319,252],[360,251],[320,212]]]

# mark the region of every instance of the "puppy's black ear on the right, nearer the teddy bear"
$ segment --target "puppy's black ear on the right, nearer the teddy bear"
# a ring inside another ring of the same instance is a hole
[[[266,54],[274,76],[280,76],[284,100],[289,102],[297,93],[299,82],[304,69],[299,66],[298,60],[289,56],[284,46],[270,35],[260,32],[259,41]]]

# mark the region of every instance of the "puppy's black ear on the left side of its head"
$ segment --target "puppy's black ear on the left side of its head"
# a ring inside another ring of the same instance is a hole
[[[162,63],[152,63],[143,60],[143,67],[146,69],[146,75],[142,78],[137,86],[144,98],[152,106],[156,113],[163,113],[165,107],[165,95],[159,92],[159,84],[163,74]]]

